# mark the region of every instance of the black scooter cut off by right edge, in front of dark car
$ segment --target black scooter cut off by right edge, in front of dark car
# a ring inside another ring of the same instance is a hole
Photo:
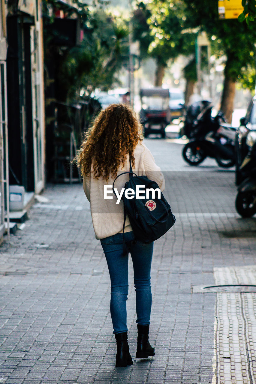
[[[256,214],[256,132],[249,132],[246,144],[249,151],[240,166],[246,179],[238,187],[235,206],[242,217],[252,217]]]

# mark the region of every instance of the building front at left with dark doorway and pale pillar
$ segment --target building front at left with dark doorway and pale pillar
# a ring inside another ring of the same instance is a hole
[[[18,0],[6,22],[10,184],[37,194],[45,187],[41,12],[41,0]]]

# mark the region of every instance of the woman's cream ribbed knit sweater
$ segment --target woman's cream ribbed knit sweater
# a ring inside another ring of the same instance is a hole
[[[133,156],[135,158],[133,172],[138,176],[146,175],[148,179],[154,180],[163,191],[165,189],[163,174],[160,168],[156,166],[154,157],[143,142],[138,142]],[[129,171],[129,168],[130,161],[128,155],[125,166],[123,169],[120,166],[118,174]],[[128,179],[128,174],[118,177],[115,182],[115,188],[120,192]],[[112,192],[109,196],[112,195],[113,199],[104,199],[104,185],[113,185],[114,180],[113,177],[110,177],[108,182],[103,180],[102,177],[96,180],[92,174],[83,178],[83,190],[90,202],[91,218],[96,239],[102,239],[123,232],[123,202],[120,201],[119,204],[116,204],[117,199]],[[131,230],[130,221],[126,218],[125,232],[130,232]]]

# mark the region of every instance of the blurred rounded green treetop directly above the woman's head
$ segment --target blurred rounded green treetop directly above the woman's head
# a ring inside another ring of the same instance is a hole
[[[128,58],[128,25],[97,10],[83,26],[81,45],[68,53],[61,76],[72,84],[73,94],[81,88],[90,94],[95,88],[108,90],[118,83],[116,74]]]

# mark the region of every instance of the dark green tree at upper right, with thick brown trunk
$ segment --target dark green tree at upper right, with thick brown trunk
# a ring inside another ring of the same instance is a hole
[[[231,122],[236,81],[244,76],[247,68],[254,66],[256,30],[253,23],[219,20],[215,2],[184,0],[184,3],[187,4],[188,26],[200,26],[209,39],[216,41],[218,55],[226,56],[221,110]]]

